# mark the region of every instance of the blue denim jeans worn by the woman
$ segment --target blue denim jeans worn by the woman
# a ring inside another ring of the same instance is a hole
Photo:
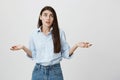
[[[51,66],[36,64],[32,73],[32,80],[63,80],[60,63]]]

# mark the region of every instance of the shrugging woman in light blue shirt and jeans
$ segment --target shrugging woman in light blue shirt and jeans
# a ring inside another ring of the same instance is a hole
[[[92,44],[78,42],[72,48],[65,40],[65,33],[59,29],[57,15],[50,6],[45,6],[38,19],[38,28],[31,34],[29,49],[24,45],[15,45],[11,50],[24,50],[36,65],[32,80],[63,80],[60,61],[70,58],[78,48],[89,48]]]

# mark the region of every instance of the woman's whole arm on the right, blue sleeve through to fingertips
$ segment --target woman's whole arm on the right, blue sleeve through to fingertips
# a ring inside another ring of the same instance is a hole
[[[61,45],[62,45],[62,55],[65,58],[69,58],[74,51],[80,47],[80,48],[89,48],[90,46],[92,46],[92,44],[88,43],[88,42],[78,42],[75,45],[73,45],[73,47],[69,47],[68,43],[66,42],[66,37],[65,37],[65,32],[61,31]]]

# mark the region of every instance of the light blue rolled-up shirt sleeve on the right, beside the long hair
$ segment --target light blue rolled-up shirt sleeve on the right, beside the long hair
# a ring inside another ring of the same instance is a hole
[[[61,54],[63,58],[71,58],[71,56],[69,55],[69,50],[70,50],[70,46],[66,41],[66,36],[65,36],[65,32],[61,31]]]

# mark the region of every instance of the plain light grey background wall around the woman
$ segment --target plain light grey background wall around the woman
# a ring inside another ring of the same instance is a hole
[[[22,50],[9,48],[28,47],[46,5],[56,10],[70,46],[93,43],[63,59],[65,80],[120,80],[120,0],[0,0],[0,80],[31,80],[34,62]]]

